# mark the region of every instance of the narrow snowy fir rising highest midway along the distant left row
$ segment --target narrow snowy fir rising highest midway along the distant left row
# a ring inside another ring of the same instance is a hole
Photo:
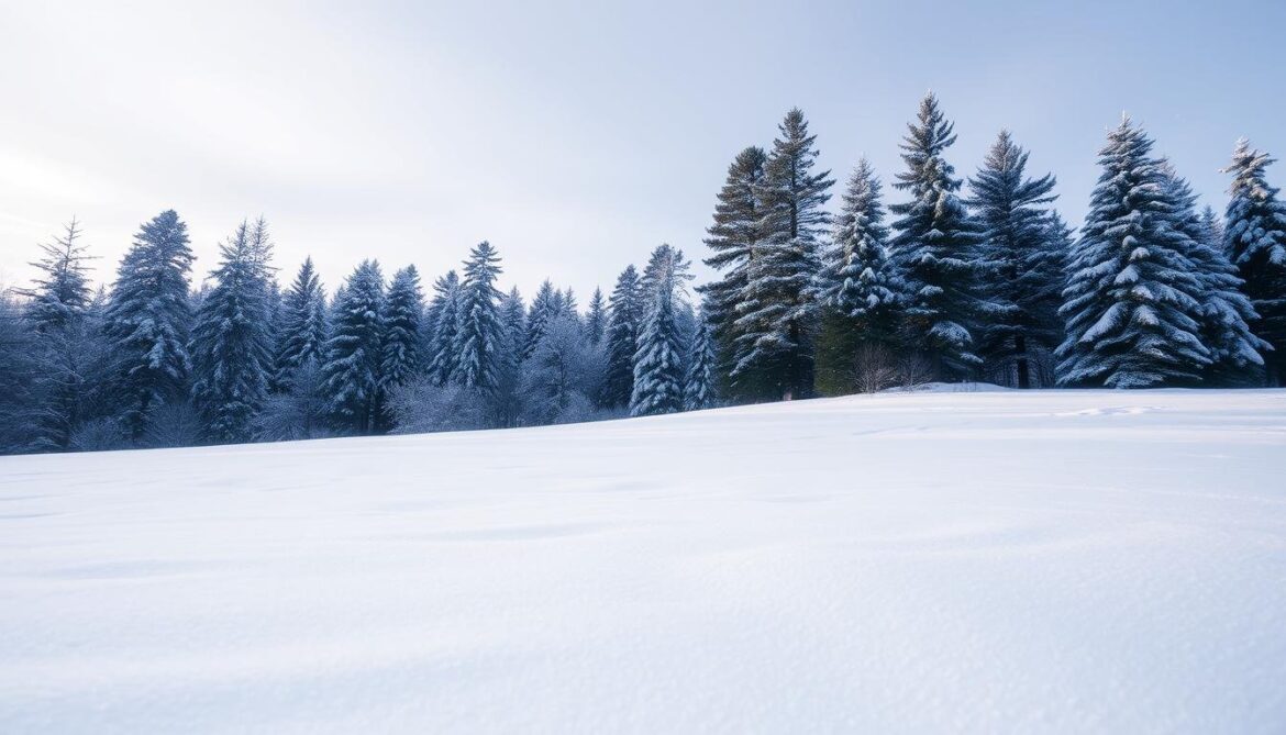
[[[476,388],[489,400],[495,397],[500,382],[504,325],[500,321],[500,292],[495,279],[500,275],[500,256],[486,240],[478,243],[464,263],[460,288],[460,329],[455,334],[459,369],[455,382]]]

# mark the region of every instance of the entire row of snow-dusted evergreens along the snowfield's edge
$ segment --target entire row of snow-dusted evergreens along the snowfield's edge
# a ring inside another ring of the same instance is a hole
[[[40,276],[0,297],[0,450],[64,451],[500,428],[878,391],[928,380],[1029,387],[1286,382],[1286,206],[1237,143],[1220,217],[1134,122],[1098,152],[1079,231],[1052,175],[1002,131],[955,175],[930,94],[883,184],[836,185],[790,111],[736,155],[705,262],[662,244],[583,310],[545,281],[498,288],[472,248],[426,298],[363,261],[327,294],[306,260],[284,290],[267,224],[244,221],[199,285],[186,225],[141,225],[111,288],[72,220]],[[890,221],[891,218],[891,221]]]

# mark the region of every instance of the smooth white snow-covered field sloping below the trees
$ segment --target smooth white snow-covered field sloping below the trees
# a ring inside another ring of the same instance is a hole
[[[0,457],[0,732],[1272,732],[1286,391]]]

